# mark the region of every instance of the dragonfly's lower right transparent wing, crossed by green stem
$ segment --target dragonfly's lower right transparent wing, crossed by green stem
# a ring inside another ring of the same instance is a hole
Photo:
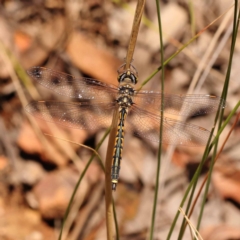
[[[159,142],[160,116],[133,106],[128,123],[138,137]],[[208,141],[210,132],[202,127],[164,117],[162,143],[169,145],[200,146]]]

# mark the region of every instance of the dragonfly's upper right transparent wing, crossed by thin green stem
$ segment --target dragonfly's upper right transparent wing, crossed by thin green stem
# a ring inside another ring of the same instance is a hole
[[[157,112],[160,115],[161,92],[139,91],[134,97],[134,103],[139,108]],[[174,95],[164,93],[164,113],[170,115],[198,116],[218,110],[219,105],[224,107],[220,97],[201,94]]]

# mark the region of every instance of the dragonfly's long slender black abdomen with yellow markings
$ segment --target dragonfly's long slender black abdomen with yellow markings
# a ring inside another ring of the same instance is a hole
[[[124,121],[128,113],[128,108],[120,107],[119,120],[118,120],[118,131],[115,139],[114,153],[113,153],[113,164],[112,164],[112,190],[116,190],[120,165],[122,159],[122,149],[124,141]]]

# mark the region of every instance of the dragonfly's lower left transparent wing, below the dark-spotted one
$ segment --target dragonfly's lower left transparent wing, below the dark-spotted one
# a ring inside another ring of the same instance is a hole
[[[115,104],[91,104],[88,102],[34,101],[26,106],[26,111],[36,118],[70,128],[97,130],[111,125]]]

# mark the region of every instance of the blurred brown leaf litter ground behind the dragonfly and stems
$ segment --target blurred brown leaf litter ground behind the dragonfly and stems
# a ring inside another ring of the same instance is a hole
[[[162,0],[160,4],[165,59],[208,26],[166,66],[165,91],[221,96],[229,62],[233,1]],[[72,100],[36,84],[26,70],[45,66],[117,85],[117,69],[126,57],[135,7],[136,1],[118,0],[0,1],[1,240],[57,239],[75,184],[91,156],[92,152],[84,147],[44,133],[95,148],[108,127],[69,129],[32,118],[24,110],[32,100]],[[240,98],[239,62],[238,38],[224,118]],[[140,84],[161,65],[155,1],[146,2],[133,64]],[[161,91],[160,74],[145,88]],[[190,118],[188,122],[210,130],[214,114]],[[233,122],[234,118],[219,146]],[[99,150],[103,160],[106,148],[107,141]],[[163,148],[155,239],[166,239],[204,152],[204,147]],[[121,239],[146,239],[157,151],[158,144],[126,134],[120,181],[113,194]],[[238,124],[212,174],[200,228],[205,240],[240,239],[239,156]],[[208,169],[209,161],[199,186]],[[193,224],[199,215],[199,202],[191,218]],[[104,174],[94,160],[78,189],[64,239],[106,239],[104,209]],[[177,239],[180,225],[181,221],[173,239]],[[191,239],[190,231],[184,239]]]

